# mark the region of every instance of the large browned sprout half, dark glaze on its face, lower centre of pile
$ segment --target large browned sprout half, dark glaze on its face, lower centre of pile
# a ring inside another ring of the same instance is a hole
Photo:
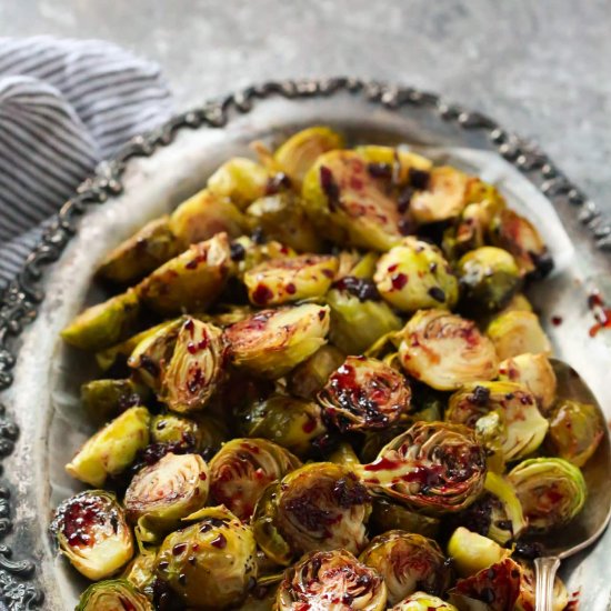
[[[314,462],[270,485],[257,504],[252,528],[266,554],[288,564],[313,550],[357,553],[367,543],[370,512],[369,493],[352,468]]]

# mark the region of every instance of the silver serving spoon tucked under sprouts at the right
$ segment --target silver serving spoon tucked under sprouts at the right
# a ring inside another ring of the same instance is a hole
[[[579,373],[558,359],[550,359],[550,362],[558,378],[558,397],[591,403],[598,409],[602,422],[607,422],[597,398]],[[535,538],[547,551],[545,557],[534,561],[535,611],[552,611],[553,581],[560,561],[591,545],[604,532],[611,518],[611,445],[607,427],[599,448],[584,464],[582,472],[588,484],[588,499],[583,510],[568,528]]]

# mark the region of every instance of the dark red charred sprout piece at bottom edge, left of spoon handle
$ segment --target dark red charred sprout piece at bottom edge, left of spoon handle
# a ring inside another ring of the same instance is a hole
[[[449,591],[450,601],[459,609],[513,610],[520,595],[521,577],[520,565],[505,558],[474,575],[459,579]]]

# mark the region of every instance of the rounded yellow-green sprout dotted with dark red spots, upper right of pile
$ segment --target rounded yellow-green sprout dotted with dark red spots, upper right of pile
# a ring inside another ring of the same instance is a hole
[[[404,312],[451,309],[459,297],[458,280],[441,251],[418,238],[404,238],[382,254],[373,280],[380,294]]]

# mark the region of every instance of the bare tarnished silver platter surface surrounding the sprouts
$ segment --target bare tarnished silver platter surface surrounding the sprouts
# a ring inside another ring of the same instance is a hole
[[[551,240],[558,269],[537,288],[532,299],[558,357],[582,374],[607,418],[611,415],[605,392],[611,335],[601,332],[597,338],[589,337],[593,320],[587,303],[595,287],[603,292],[611,288],[604,286],[611,253],[597,247],[595,231],[579,220],[588,211],[585,198],[541,151],[485,117],[411,89],[349,80],[250,89],[177,119],[102,168],[100,176],[64,209],[47,244],[33,254],[21,282],[13,287],[11,303],[4,304],[4,322],[0,318],[0,383],[9,385],[0,401],[21,429],[14,451],[3,461],[14,511],[14,520],[9,523],[14,530],[14,555],[37,564],[34,581],[46,597],[42,608],[71,609],[82,589],[74,572],[56,559],[46,537],[54,504],[76,489],[63,473],[63,464],[90,432],[78,404],[78,387],[90,374],[89,365],[82,355],[61,344],[60,329],[86,302],[100,297],[91,288],[91,276],[110,248],[201,188],[229,156],[248,154],[251,140],[278,141],[312,122],[334,126],[352,141],[423,147],[470,164],[474,171],[494,174],[487,178],[498,180],[510,202],[527,210]],[[172,139],[171,146],[166,146]],[[107,199],[103,206],[97,206]],[[84,209],[87,216],[77,222]],[[69,239],[72,227],[77,233]],[[44,260],[59,256],[64,243],[60,260],[44,271]],[[37,279],[38,270],[44,273],[41,281]],[[37,297],[42,298],[40,306],[36,304]],[[18,345],[7,341],[3,333],[18,332],[37,309],[38,318],[24,328]],[[562,324],[550,324],[552,315],[561,315]],[[6,322],[9,317],[10,324]],[[8,360],[16,348],[19,351],[13,368]],[[611,583],[605,573],[610,552],[608,532],[591,553],[567,565],[569,587],[571,591],[581,588],[583,609],[608,609]],[[0,560],[0,575],[1,570]],[[33,588],[33,582],[19,573],[4,574],[12,580],[9,588],[13,590],[19,584]],[[8,591],[1,577],[0,590]],[[32,592],[33,602],[23,602],[23,597],[19,600],[16,594],[18,603],[13,608],[40,607],[37,591]]]

